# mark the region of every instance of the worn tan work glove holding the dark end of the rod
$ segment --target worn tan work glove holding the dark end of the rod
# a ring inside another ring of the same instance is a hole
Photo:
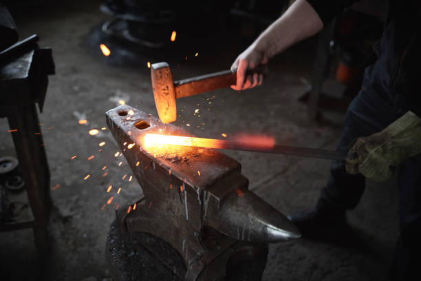
[[[388,180],[402,160],[420,153],[421,119],[407,112],[382,132],[358,138],[348,152],[346,169],[371,180]]]

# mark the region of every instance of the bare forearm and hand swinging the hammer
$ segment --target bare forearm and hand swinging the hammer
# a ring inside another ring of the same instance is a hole
[[[262,34],[235,59],[231,70],[237,72],[234,90],[246,90],[261,85],[263,74],[253,73],[255,67],[264,65],[294,43],[316,34],[323,22],[305,0],[296,0],[290,8],[274,21]]]

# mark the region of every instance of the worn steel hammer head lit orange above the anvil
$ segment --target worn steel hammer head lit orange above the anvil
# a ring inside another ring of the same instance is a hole
[[[173,75],[168,63],[153,63],[151,65],[151,80],[153,98],[155,98],[160,120],[162,123],[174,122],[177,119],[177,105]]]

